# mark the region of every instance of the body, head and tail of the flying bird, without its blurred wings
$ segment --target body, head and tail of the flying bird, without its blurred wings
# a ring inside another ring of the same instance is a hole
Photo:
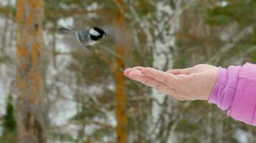
[[[60,34],[76,36],[78,42],[86,47],[91,47],[95,44],[98,44],[101,39],[108,37],[107,31],[98,26],[93,26],[91,29],[83,31],[75,31],[73,29],[61,27],[58,29],[58,32]]]

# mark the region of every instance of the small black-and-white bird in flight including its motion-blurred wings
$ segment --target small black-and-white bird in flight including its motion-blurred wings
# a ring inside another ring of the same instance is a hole
[[[69,35],[72,36],[74,39],[77,39],[78,43],[81,46],[86,47],[87,56],[91,56],[96,61],[99,61],[99,57],[93,56],[93,51],[91,47],[95,44],[99,44],[101,40],[107,39],[110,43],[109,44],[116,44],[119,45],[131,45],[132,44],[132,34],[130,29],[120,29],[118,26],[93,26],[91,29],[76,31],[73,29],[68,29],[65,27],[61,27],[58,29],[59,34]],[[72,43],[72,42],[71,42]],[[80,47],[76,45],[77,47]],[[120,55],[116,54],[114,49],[107,47],[104,44],[97,47],[96,50],[100,50],[103,52],[107,52],[113,56],[121,57]]]

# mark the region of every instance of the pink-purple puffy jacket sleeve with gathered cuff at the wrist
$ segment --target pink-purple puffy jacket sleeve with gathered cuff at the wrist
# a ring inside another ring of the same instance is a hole
[[[256,126],[256,64],[219,67],[209,102],[227,110],[230,117]]]

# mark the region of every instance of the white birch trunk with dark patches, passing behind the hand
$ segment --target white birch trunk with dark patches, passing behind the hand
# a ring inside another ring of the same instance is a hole
[[[155,47],[153,47],[153,67],[166,71],[173,69],[173,54],[175,51],[175,32],[180,24],[180,1],[157,1],[156,3],[156,21],[154,31]],[[175,100],[170,100],[165,97],[165,94],[152,89],[152,98],[157,102],[152,102],[152,122],[157,124],[152,132],[153,142],[163,142],[163,132],[169,132],[167,127],[173,126],[169,122],[173,122],[171,117],[168,117],[167,112],[172,112]],[[165,101],[168,100],[168,101]],[[164,102],[168,102],[164,107]],[[166,109],[163,109],[166,108]],[[163,117],[160,117],[163,116]],[[174,116],[174,115],[173,115]],[[163,120],[163,119],[167,120]],[[175,117],[175,116],[174,116]],[[175,118],[174,118],[175,119]],[[165,137],[166,138],[166,137]],[[171,142],[171,139],[168,139]]]

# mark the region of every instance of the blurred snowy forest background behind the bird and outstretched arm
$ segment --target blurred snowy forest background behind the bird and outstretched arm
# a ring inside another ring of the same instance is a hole
[[[93,58],[56,32],[110,25],[120,40],[91,47]],[[256,142],[254,127],[215,105],[122,75],[247,61],[256,0],[0,0],[0,142]]]

